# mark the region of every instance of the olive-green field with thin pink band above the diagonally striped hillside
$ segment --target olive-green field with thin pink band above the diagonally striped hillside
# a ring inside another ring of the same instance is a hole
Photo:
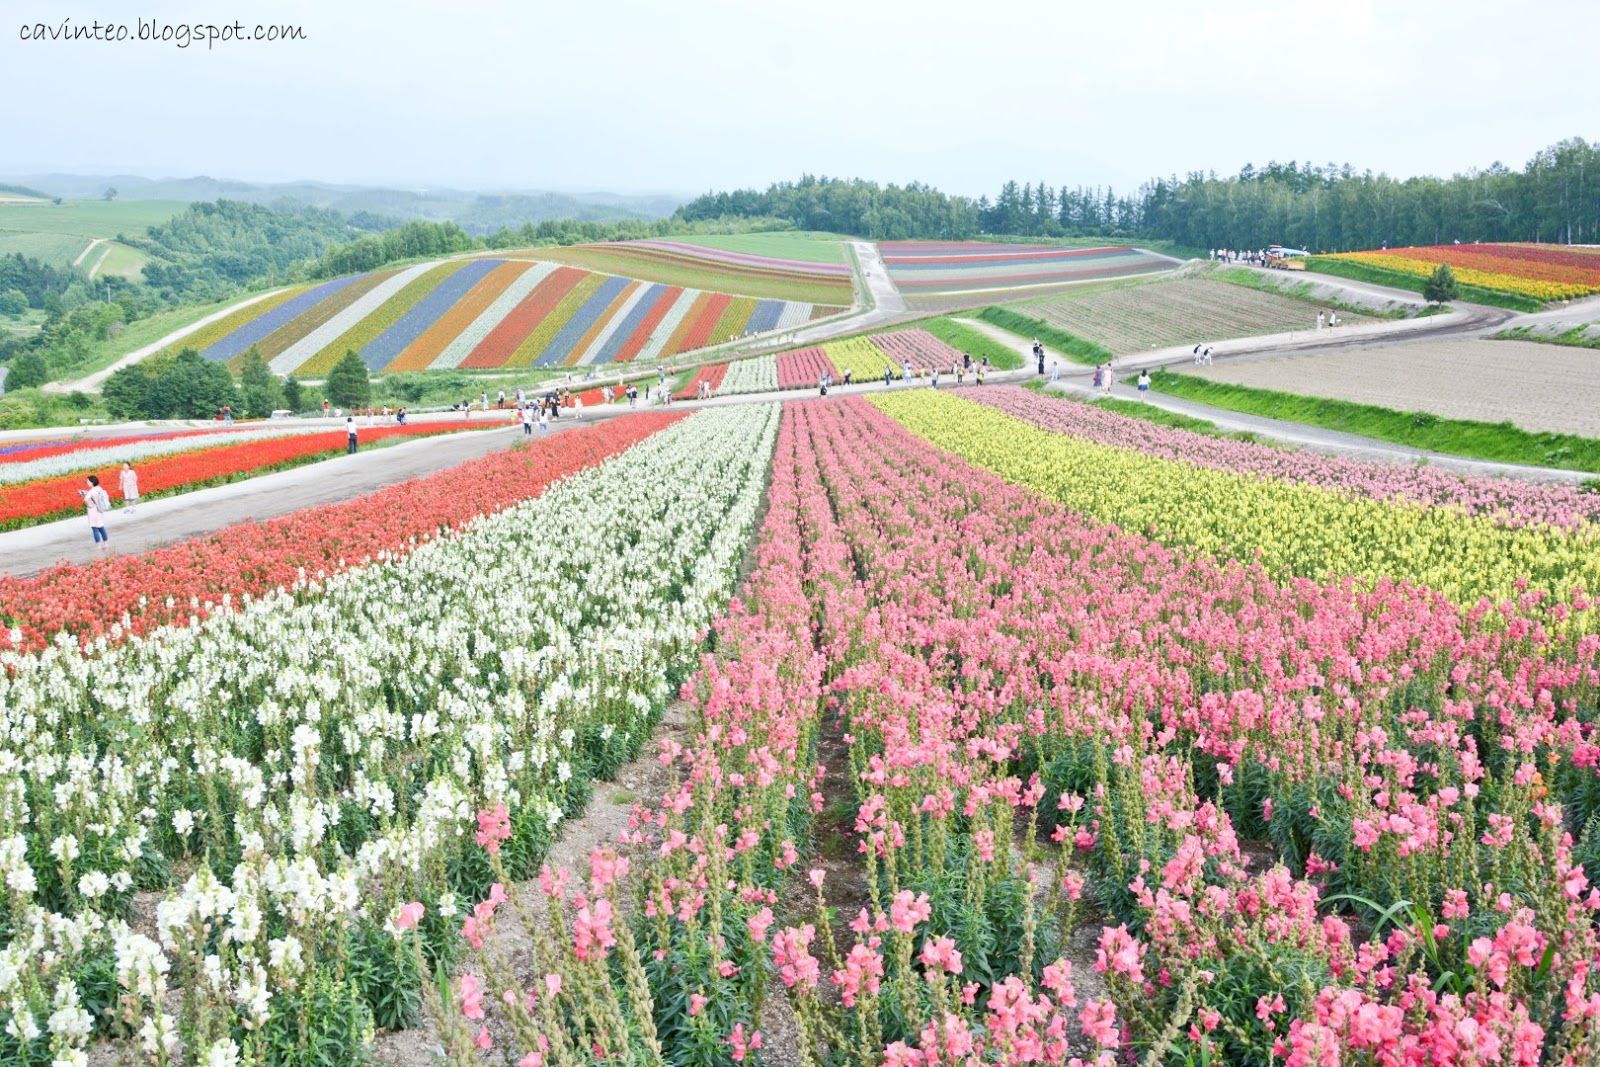
[[[733,246],[707,248],[675,240],[642,240],[502,254],[758,299],[834,307],[845,307],[854,301],[851,270],[843,262],[765,256]]]

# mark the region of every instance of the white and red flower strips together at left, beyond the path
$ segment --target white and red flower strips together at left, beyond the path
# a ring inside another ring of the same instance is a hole
[[[494,426],[483,419],[477,422],[413,422],[410,426],[362,427],[360,440],[363,445],[373,445],[394,438],[485,429],[494,429]],[[98,474],[107,493],[115,498],[123,461],[138,464],[139,493],[149,499],[216,485],[245,474],[264,474],[339,456],[344,454],[346,448],[344,429],[240,432],[227,434],[222,442],[214,440],[214,437],[197,442],[186,435],[142,445],[67,453],[38,461],[38,464],[48,464],[53,469],[74,470],[74,474],[54,477],[38,474],[35,464],[3,464],[0,466],[0,530],[32,526],[80,514],[83,501],[78,498],[78,490],[83,488],[83,478],[91,474]],[[13,474],[22,477],[8,477]]]

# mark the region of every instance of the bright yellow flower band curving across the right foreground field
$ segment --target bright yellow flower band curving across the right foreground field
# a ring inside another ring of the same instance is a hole
[[[1574,587],[1600,590],[1592,528],[1509,530],[1445,507],[1195,467],[1043,430],[954,394],[894,392],[872,403],[930,443],[1082,515],[1165,544],[1259,560],[1278,577],[1392,577],[1461,605],[1512,598],[1522,581],[1563,600]],[[1574,624],[1594,629],[1600,617],[1584,613]]]

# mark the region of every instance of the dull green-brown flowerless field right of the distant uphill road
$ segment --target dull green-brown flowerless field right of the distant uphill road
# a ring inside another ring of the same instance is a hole
[[[1019,304],[1018,310],[1102,344],[1118,355],[1173,344],[1310,330],[1317,325],[1317,309],[1306,301],[1206,277],[1059,293]],[[1344,312],[1339,320],[1347,325],[1371,322]]]

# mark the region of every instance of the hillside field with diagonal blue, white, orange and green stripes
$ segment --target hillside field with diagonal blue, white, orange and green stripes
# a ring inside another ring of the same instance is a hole
[[[448,259],[285,290],[179,344],[234,365],[254,346],[278,374],[325,374],[346,352],[373,371],[570,366],[670,358],[835,310],[533,259]]]

